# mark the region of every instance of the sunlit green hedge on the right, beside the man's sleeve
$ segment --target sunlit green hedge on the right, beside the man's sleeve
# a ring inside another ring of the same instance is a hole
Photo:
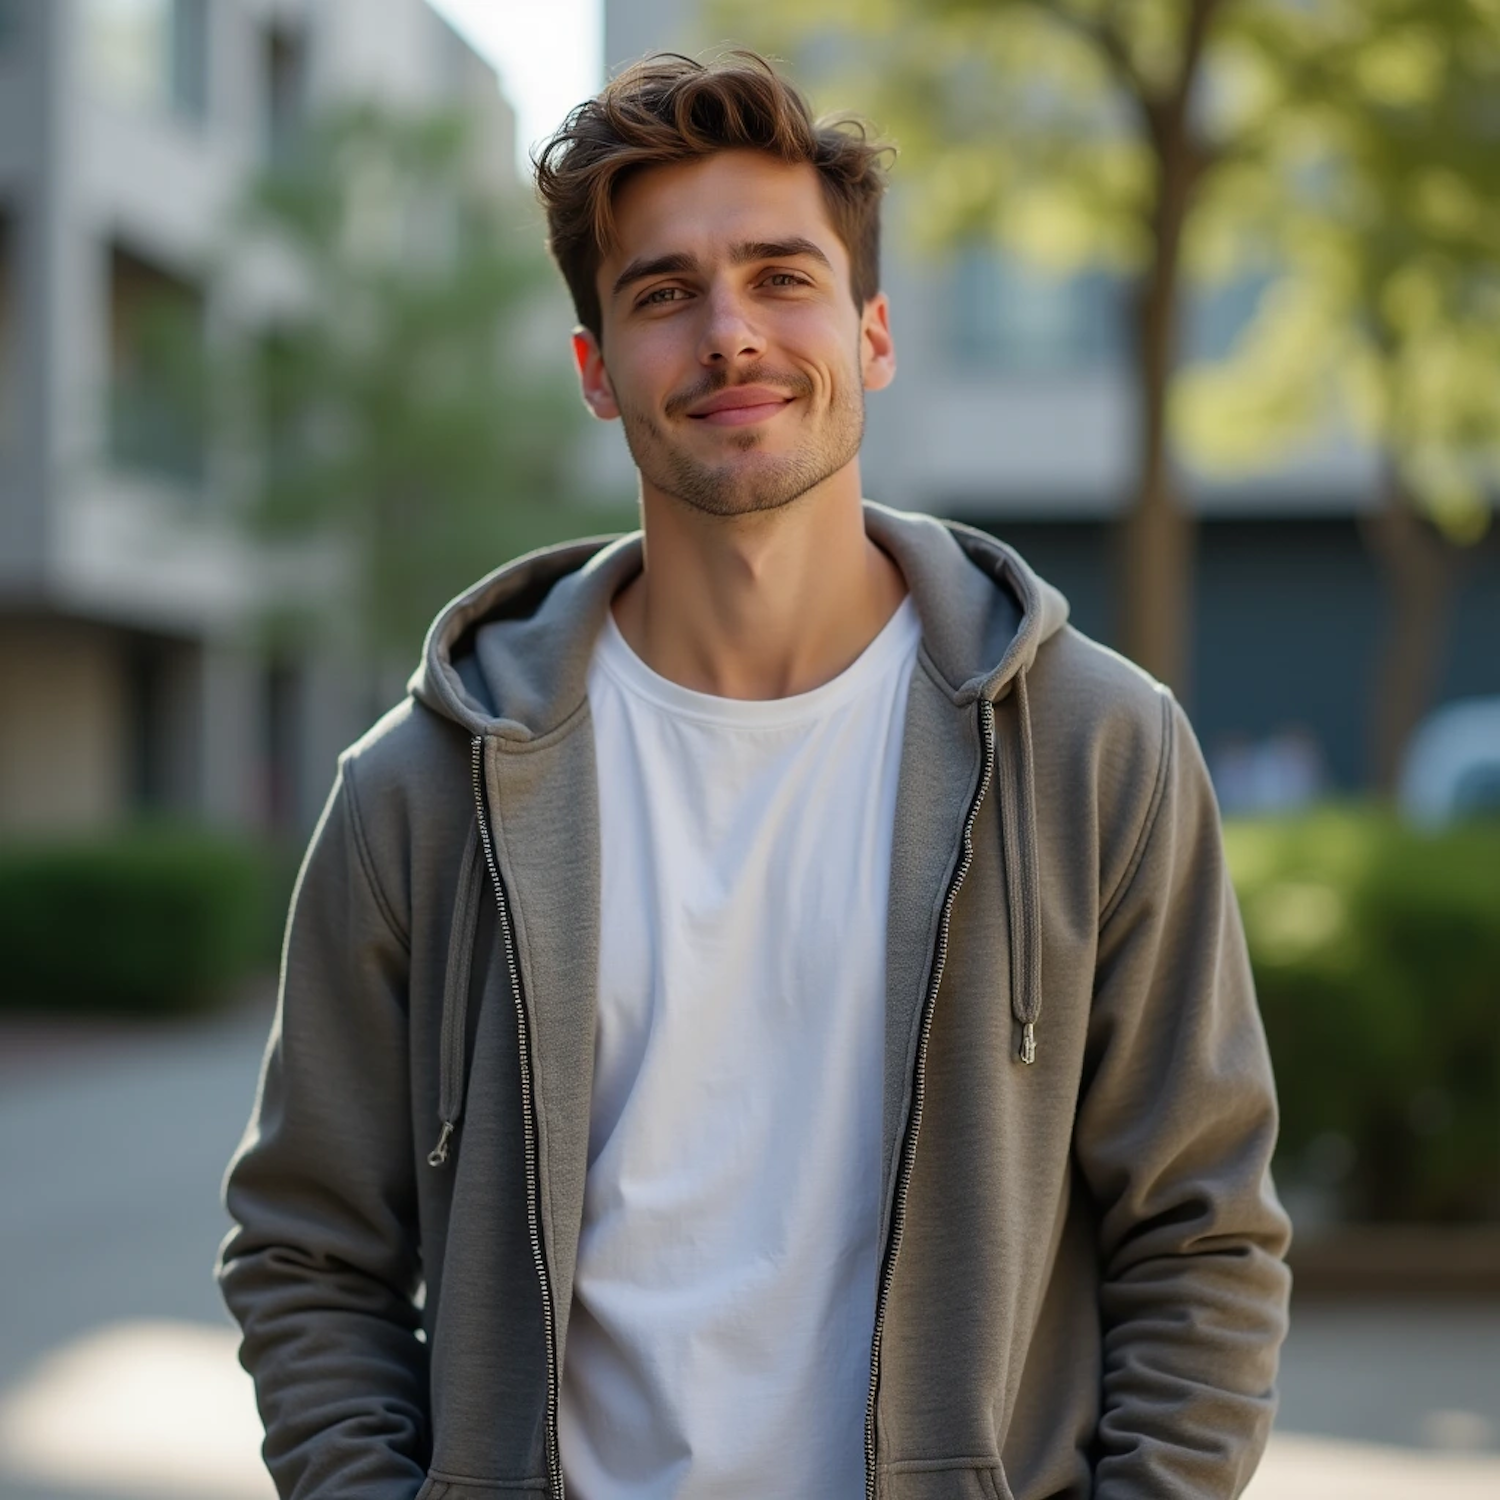
[[[1356,1221],[1500,1216],[1500,825],[1330,808],[1226,836],[1278,1176]]]

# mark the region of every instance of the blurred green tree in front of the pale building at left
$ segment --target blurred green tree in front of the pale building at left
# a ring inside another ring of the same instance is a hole
[[[555,284],[537,214],[486,183],[462,118],[326,120],[255,183],[237,237],[300,288],[237,362],[250,514],[345,558],[338,603],[372,656],[410,660],[508,556],[608,530],[572,504],[582,405],[548,352],[564,327],[536,316]]]

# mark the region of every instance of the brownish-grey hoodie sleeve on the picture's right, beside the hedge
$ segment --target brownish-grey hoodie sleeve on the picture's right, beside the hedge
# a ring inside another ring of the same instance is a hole
[[[1101,914],[1076,1149],[1100,1224],[1095,1500],[1228,1500],[1270,1431],[1290,1228],[1218,808],[1162,693],[1156,786]]]

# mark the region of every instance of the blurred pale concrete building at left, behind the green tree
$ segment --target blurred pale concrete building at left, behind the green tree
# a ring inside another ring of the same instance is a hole
[[[468,105],[494,70],[426,0],[0,0],[0,832],[135,812],[304,826],[370,705],[334,650],[262,645],[273,576],[160,388],[147,304],[208,336],[256,166],[339,99]]]

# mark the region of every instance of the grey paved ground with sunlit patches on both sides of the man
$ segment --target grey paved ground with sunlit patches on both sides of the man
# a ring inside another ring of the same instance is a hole
[[[0,1500],[273,1500],[210,1266],[256,1008],[0,1030]],[[1500,1305],[1299,1308],[1250,1500],[1496,1500]]]

